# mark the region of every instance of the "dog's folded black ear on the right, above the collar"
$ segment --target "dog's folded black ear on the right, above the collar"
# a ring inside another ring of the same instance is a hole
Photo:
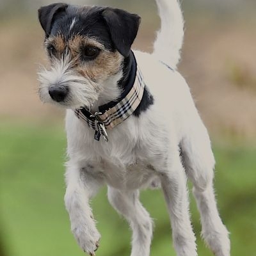
[[[129,55],[131,45],[140,26],[140,16],[120,9],[106,8],[102,12],[116,49],[125,57]]]

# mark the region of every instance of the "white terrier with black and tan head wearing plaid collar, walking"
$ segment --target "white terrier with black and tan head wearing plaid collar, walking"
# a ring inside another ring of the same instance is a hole
[[[230,255],[214,196],[214,156],[207,130],[177,72],[184,22],[177,0],[156,0],[161,29],[154,52],[132,51],[140,17],[125,10],[55,3],[38,10],[50,67],[39,95],[67,109],[65,206],[77,243],[95,255],[100,234],[90,200],[107,184],[108,200],[132,229],[131,256],[149,256],[152,220],[141,188],[163,189],[173,246],[196,256],[187,177],[193,182],[202,237],[216,256]]]

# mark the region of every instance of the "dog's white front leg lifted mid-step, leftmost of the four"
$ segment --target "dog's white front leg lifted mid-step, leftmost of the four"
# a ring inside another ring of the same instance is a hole
[[[93,173],[91,164],[67,163],[65,205],[71,229],[79,246],[90,255],[99,247],[100,234],[95,227],[89,200],[97,192],[103,179]]]

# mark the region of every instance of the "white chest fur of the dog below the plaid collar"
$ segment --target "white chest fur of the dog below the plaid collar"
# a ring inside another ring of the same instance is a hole
[[[163,160],[168,134],[153,123],[152,109],[142,118],[130,116],[123,124],[108,131],[109,141],[95,141],[94,131],[67,112],[68,156],[83,172],[100,177],[114,188],[138,189],[156,186],[154,164]],[[72,133],[74,131],[74,133]]]

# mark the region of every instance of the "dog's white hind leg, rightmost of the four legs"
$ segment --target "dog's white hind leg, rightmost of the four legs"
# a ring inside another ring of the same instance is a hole
[[[202,237],[216,256],[230,255],[227,228],[223,225],[214,196],[214,156],[204,125],[199,124],[181,143],[184,167],[193,182],[193,194],[201,216]]]

